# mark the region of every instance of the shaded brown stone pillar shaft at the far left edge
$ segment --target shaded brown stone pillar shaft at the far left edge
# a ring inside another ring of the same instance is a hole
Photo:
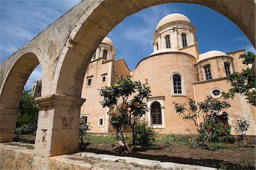
[[[14,138],[19,109],[0,108],[0,142],[11,142]]]

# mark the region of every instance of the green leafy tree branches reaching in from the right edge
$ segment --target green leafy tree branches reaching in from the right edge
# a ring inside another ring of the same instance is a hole
[[[254,53],[247,52],[247,54],[240,55],[243,64],[250,64],[255,59]],[[234,72],[229,74],[228,81],[230,81],[233,88],[229,89],[227,93],[222,92],[224,98],[234,98],[236,93],[246,96],[247,102],[256,106],[255,103],[255,74],[251,72],[250,68],[242,69],[241,73]]]

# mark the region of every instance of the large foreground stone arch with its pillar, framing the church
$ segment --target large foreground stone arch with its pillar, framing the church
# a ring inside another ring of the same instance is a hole
[[[35,155],[39,157],[77,151],[80,106],[85,101],[80,97],[86,68],[98,44],[126,16],[147,7],[168,2],[205,5],[237,24],[255,47],[255,3],[251,0],[237,0],[235,5],[233,1],[222,0],[84,0],[82,2],[77,6],[84,9],[83,13],[81,10],[77,10],[79,8],[73,8],[65,14],[65,17],[59,18],[54,26],[52,24],[52,27],[46,28],[44,34],[36,36],[32,41],[32,43],[40,43],[40,40],[50,41],[51,38],[47,37],[48,35],[54,36],[59,33],[56,27],[65,27],[65,23],[69,23],[65,28],[69,27],[71,30],[66,29],[65,31],[68,33],[65,35],[64,33],[58,34],[60,35],[58,38],[61,39],[56,46],[58,50],[51,55],[49,63],[46,63],[46,67],[52,68],[54,71],[47,77],[47,80],[50,81],[50,89],[46,94],[51,95],[42,96],[38,100],[41,111],[39,114],[45,118],[43,123],[39,122],[40,128],[36,135]],[[72,19],[76,17],[79,19],[74,22]],[[32,43],[30,42],[28,45]],[[44,44],[39,43],[39,46]],[[45,46],[47,45],[51,46],[49,42]],[[56,44],[53,43],[53,45]],[[43,52],[47,53],[47,49],[44,49]],[[12,61],[10,60],[10,62]],[[5,66],[1,65],[1,67]],[[7,82],[0,81],[1,85]],[[2,91],[0,93],[2,95]],[[3,112],[1,111],[1,113]]]

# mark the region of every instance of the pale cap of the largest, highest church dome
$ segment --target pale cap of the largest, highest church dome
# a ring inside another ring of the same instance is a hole
[[[175,21],[175,20],[184,20],[187,22],[191,22],[188,19],[188,17],[183,14],[179,14],[179,13],[169,14],[169,15],[164,16],[164,18],[160,20],[160,22],[158,23],[158,26],[156,26],[156,30],[159,27],[163,26],[164,24]]]

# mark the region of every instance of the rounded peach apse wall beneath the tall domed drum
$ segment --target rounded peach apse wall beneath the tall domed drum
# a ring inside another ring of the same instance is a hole
[[[175,95],[173,93],[172,74],[181,74],[181,82],[183,81],[183,94]],[[160,133],[172,134],[190,134],[185,131],[187,128],[192,133],[196,133],[196,127],[192,121],[184,121],[179,114],[174,110],[172,102],[180,103],[186,102],[187,97],[193,98],[192,82],[196,81],[195,65],[191,57],[181,53],[168,53],[148,57],[148,59],[141,61],[137,68],[133,71],[133,80],[144,81],[144,77],[148,78],[151,86],[152,96],[148,99],[148,103],[159,101],[162,108],[162,121],[164,125],[156,126],[156,131]],[[150,100],[150,101],[149,101]],[[150,105],[148,106],[150,109]],[[163,113],[164,112],[164,113]],[[150,118],[148,114],[146,118]]]

